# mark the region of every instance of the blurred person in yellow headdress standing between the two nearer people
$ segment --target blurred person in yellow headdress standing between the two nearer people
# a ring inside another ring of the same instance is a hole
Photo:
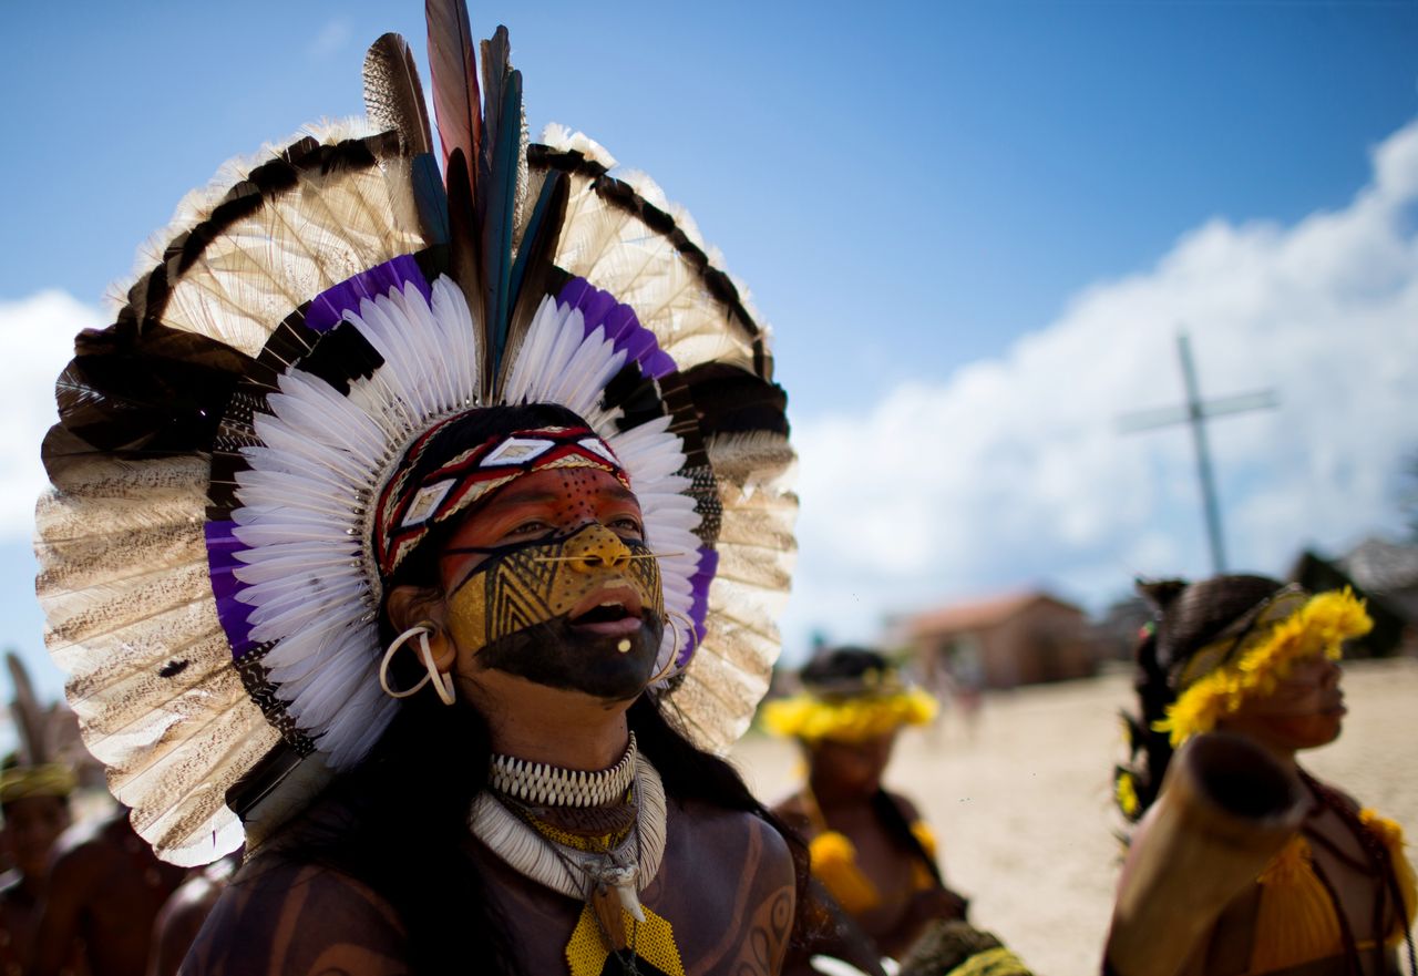
[[[800,677],[803,692],[763,714],[771,732],[798,741],[808,766],[774,813],[808,840],[814,878],[879,955],[900,958],[930,922],[963,919],[967,905],[942,880],[915,804],[882,787],[896,733],[927,723],[936,701],[865,648],[821,650]]]

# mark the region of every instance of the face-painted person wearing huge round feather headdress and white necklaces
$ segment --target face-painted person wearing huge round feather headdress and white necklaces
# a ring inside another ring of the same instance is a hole
[[[767,336],[693,223],[430,0],[369,125],[191,201],[44,445],[50,647],[182,972],[774,973],[807,855],[716,756],[777,654]]]

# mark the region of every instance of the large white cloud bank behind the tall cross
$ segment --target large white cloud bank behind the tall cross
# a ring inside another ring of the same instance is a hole
[[[1085,289],[1001,359],[798,418],[801,559],[786,636],[869,638],[882,614],[1045,583],[1089,601],[1133,575],[1208,572],[1185,428],[1119,416],[1272,389],[1208,427],[1234,569],[1398,523],[1418,451],[1418,122],[1350,204],[1295,226],[1211,220],[1143,274]]]

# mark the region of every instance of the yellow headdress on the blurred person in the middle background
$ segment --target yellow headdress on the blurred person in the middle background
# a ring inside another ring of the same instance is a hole
[[[835,739],[866,742],[903,725],[925,725],[940,704],[929,692],[906,687],[895,674],[876,675],[856,694],[804,691],[763,706],[763,726],[774,735],[804,742]]]

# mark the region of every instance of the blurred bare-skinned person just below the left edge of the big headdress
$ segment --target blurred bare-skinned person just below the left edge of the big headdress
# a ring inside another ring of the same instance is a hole
[[[64,973],[77,939],[92,976],[146,976],[153,921],[186,875],[153,855],[126,809],[71,827],[50,868],[35,976]]]

